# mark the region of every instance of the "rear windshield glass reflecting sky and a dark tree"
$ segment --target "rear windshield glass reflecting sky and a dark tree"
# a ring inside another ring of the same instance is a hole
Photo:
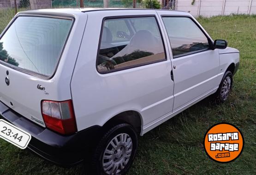
[[[18,17],[0,39],[0,62],[51,76],[71,26],[71,19]]]

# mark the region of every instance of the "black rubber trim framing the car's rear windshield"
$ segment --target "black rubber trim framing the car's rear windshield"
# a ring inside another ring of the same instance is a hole
[[[73,26],[74,26],[74,23],[75,23],[75,20],[76,20],[75,17],[73,17],[73,16],[52,15],[52,14],[49,14],[49,15],[45,15],[45,14],[18,14],[16,17],[14,17],[12,23],[10,23],[10,24],[7,26],[7,28],[4,29],[4,31],[2,32],[2,34],[0,34],[0,39],[4,36],[4,34],[6,33],[6,31],[12,26],[12,24],[16,21],[16,19],[17,19],[18,17],[47,17],[47,18],[57,18],[57,19],[68,19],[68,20],[72,20],[71,28],[70,28],[70,30],[69,30],[69,32],[68,32],[68,34],[67,34],[67,37],[66,37],[65,43],[64,43],[64,45],[63,45],[63,47],[62,47],[62,49],[61,49],[60,55],[58,56],[58,60],[57,60],[57,62],[56,62],[56,66],[55,66],[55,68],[54,68],[54,72],[53,72],[51,75],[47,76],[47,75],[43,75],[43,74],[41,74],[41,73],[36,73],[36,72],[31,71],[31,70],[28,70],[28,69],[19,68],[19,67],[17,67],[17,66],[14,66],[14,65],[12,65],[12,64],[9,64],[9,63],[6,63],[6,62],[3,62],[3,61],[0,60],[0,64],[6,66],[6,67],[8,67],[8,68],[12,68],[12,69],[17,70],[17,71],[19,71],[19,72],[26,73],[26,74],[32,75],[32,76],[37,77],[37,78],[40,78],[40,79],[45,79],[45,80],[52,79],[52,78],[54,77],[54,75],[55,75],[55,73],[56,73],[58,67],[59,67],[60,59],[61,59],[61,57],[62,57],[62,54],[63,54],[64,50],[65,50],[66,43],[67,43],[67,41],[68,41],[68,39],[69,39],[69,36],[70,36],[70,34],[71,34],[71,31],[72,31],[72,29],[73,29]]]

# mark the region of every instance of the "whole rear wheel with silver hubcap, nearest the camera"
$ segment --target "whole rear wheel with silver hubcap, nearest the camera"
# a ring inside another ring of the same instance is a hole
[[[137,151],[137,133],[130,124],[109,129],[96,147],[92,160],[96,175],[124,175]]]

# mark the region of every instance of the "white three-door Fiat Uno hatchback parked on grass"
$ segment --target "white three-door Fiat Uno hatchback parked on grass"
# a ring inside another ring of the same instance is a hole
[[[211,94],[225,102],[238,65],[187,12],[19,12],[0,35],[0,115],[55,164],[123,175],[138,135]]]

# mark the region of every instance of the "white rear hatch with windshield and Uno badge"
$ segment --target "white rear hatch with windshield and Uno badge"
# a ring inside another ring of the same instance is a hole
[[[0,101],[44,127],[41,101],[56,100],[50,87],[73,21],[20,16],[0,35]]]

